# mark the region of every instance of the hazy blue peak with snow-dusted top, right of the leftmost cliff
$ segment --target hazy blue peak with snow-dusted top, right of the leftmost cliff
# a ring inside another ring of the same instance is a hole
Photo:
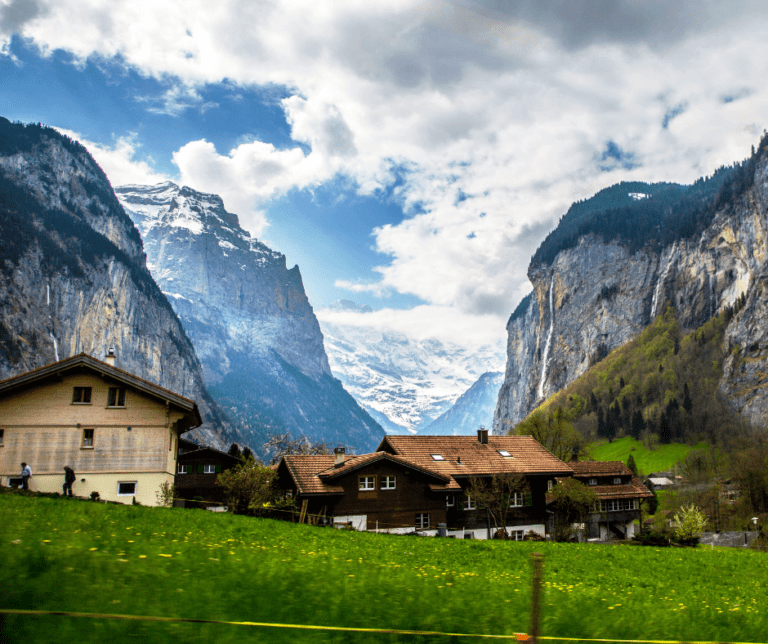
[[[331,375],[298,266],[252,239],[217,195],[173,183],[116,194],[242,442],[258,451],[289,431],[375,448],[383,431]]]

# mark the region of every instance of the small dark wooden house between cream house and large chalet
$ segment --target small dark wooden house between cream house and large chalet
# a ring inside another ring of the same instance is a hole
[[[241,459],[226,452],[212,447],[200,447],[190,441],[183,441],[183,444],[179,441],[174,505],[182,508],[222,509],[225,499],[218,476],[239,463],[242,463]]]

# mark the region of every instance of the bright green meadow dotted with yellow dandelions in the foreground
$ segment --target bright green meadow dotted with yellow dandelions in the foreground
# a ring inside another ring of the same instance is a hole
[[[765,642],[768,557],[729,549],[342,532],[200,510],[0,494],[0,607],[512,634],[544,555],[546,636]],[[13,616],[10,642],[471,642]]]

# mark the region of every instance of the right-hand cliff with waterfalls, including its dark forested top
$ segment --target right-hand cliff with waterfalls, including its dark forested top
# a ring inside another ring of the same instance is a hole
[[[633,207],[629,199],[647,204]],[[742,294],[747,304],[725,338],[726,349],[741,351],[726,360],[720,392],[751,422],[764,423],[768,137],[744,163],[693,186],[619,185],[593,200],[591,212],[589,202],[575,204],[561,221],[560,229],[570,225],[576,232],[556,230],[531,262],[533,292],[507,326],[494,433],[508,431],[591,363],[636,337],[665,302],[687,332]],[[628,223],[611,228],[622,218]],[[622,225],[637,225],[638,236],[650,232],[644,241],[630,238]]]

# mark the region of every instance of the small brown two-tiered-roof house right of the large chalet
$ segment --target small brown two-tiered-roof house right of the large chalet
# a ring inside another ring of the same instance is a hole
[[[599,499],[589,513],[590,539],[631,539],[635,521],[641,517],[640,505],[653,494],[621,461],[581,461],[569,463],[573,477],[592,489]]]

